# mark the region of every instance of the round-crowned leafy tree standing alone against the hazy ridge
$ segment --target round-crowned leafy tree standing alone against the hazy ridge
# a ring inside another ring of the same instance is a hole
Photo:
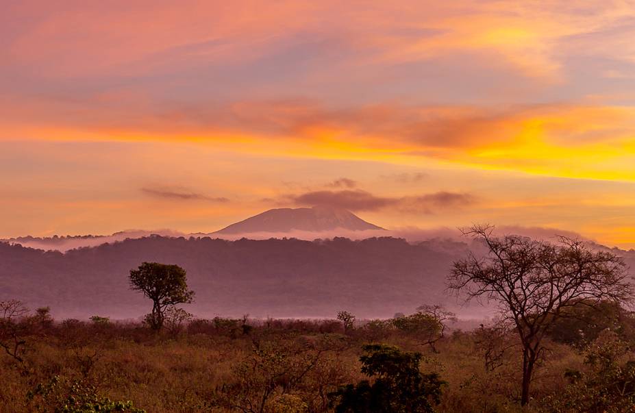
[[[194,299],[194,291],[188,290],[186,271],[177,265],[144,262],[130,270],[130,288],[152,300],[152,312],[146,321],[157,330],[163,327],[168,308]]]

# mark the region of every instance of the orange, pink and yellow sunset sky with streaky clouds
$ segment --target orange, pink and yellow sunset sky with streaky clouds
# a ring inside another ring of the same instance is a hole
[[[635,248],[634,1],[0,0],[0,237],[390,229]]]

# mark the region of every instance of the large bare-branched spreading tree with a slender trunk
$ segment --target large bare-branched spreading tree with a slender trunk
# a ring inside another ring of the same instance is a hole
[[[530,399],[534,367],[544,353],[549,328],[574,305],[601,301],[627,303],[634,297],[619,256],[595,251],[584,242],[559,237],[558,243],[520,236],[492,235],[491,225],[475,225],[464,235],[481,240],[487,252],[471,252],[454,262],[448,287],[466,300],[498,303],[503,321],[514,326],[523,349],[521,405]]]

